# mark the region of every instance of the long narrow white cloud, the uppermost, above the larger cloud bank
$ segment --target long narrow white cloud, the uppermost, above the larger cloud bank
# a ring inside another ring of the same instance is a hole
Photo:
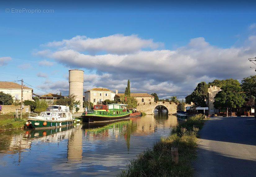
[[[88,38],[86,36],[76,36],[69,40],[49,42],[43,46],[59,47],[64,50],[72,49],[76,51],[109,52],[111,54],[127,54],[137,52],[143,48],[157,49],[163,46],[162,43],[155,43],[152,39],[141,39],[137,35],[124,36],[115,34],[107,37]],[[48,52],[41,51],[38,54]]]

